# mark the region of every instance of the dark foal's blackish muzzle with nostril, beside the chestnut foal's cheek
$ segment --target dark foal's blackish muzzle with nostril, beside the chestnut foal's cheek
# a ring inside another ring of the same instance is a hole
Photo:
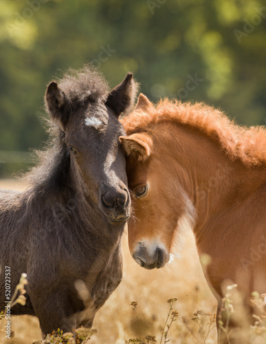
[[[130,197],[127,189],[105,189],[101,196],[101,205],[104,215],[112,224],[122,224],[129,219]]]

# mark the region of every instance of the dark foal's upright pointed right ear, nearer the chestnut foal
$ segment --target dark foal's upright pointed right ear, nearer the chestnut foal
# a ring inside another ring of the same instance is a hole
[[[133,80],[133,74],[126,74],[126,78],[109,93],[105,105],[113,110],[116,116],[131,111],[137,94],[137,83]]]

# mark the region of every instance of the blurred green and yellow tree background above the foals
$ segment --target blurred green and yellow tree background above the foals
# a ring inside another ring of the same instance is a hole
[[[203,101],[242,125],[266,121],[263,0],[0,0],[0,178],[45,141],[49,80],[91,63],[141,92]]]

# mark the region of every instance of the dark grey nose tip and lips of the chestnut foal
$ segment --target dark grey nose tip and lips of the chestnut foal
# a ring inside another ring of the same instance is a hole
[[[141,245],[132,254],[137,264],[148,270],[154,268],[163,268],[169,261],[169,255],[163,248],[155,247],[153,250],[148,250]]]

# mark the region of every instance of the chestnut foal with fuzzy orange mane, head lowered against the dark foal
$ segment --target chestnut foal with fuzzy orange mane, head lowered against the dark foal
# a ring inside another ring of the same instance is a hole
[[[251,307],[250,293],[266,292],[265,129],[234,125],[207,105],[161,100],[155,107],[143,94],[122,124],[134,214],[129,248],[137,264],[162,268],[191,228],[199,255],[211,258],[204,272],[217,312],[225,280]]]

